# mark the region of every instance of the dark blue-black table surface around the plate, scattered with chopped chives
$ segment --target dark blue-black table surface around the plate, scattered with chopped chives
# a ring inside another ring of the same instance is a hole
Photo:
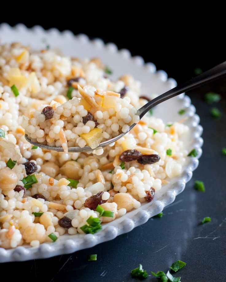
[[[164,65],[161,68],[164,69]],[[169,65],[167,68],[170,69]],[[174,72],[175,69],[172,74]],[[178,77],[173,77],[182,81],[179,70]],[[221,154],[222,147],[226,147],[224,89],[225,79],[221,79],[188,93],[204,128],[203,154],[192,180],[174,203],[164,209],[162,218],[150,219],[131,232],[90,249],[49,259],[4,263],[0,270],[10,273],[11,281],[14,278],[49,282],[137,281],[131,278],[130,271],[139,263],[151,274],[151,271],[167,272],[172,262],[180,259],[187,263],[175,274],[181,276],[182,282],[225,281],[226,156]],[[220,103],[208,105],[203,101],[203,96],[210,90],[224,96]],[[211,117],[212,106],[220,109],[221,118]],[[194,189],[195,180],[204,181],[206,192]],[[212,221],[201,225],[206,216]],[[95,253],[97,261],[88,262],[88,255]],[[149,276],[145,281],[157,279]]]

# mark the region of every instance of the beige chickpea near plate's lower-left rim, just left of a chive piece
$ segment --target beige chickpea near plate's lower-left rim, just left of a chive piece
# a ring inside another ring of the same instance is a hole
[[[38,240],[40,243],[43,243],[46,240],[45,227],[40,223],[30,224],[25,228],[22,235],[27,243],[33,240]]]

